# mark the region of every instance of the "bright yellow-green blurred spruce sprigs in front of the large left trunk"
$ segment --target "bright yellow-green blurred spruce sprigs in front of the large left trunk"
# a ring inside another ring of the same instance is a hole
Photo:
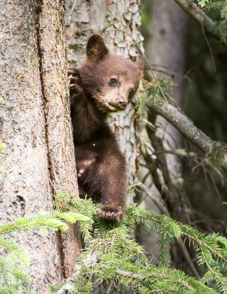
[[[12,241],[9,236],[12,232],[21,232],[29,229],[40,228],[47,234],[47,228],[55,231],[66,231],[66,222],[75,221],[86,222],[90,219],[79,213],[61,212],[60,210],[51,212],[40,212],[36,216],[21,218],[17,221],[10,221],[0,225],[0,249],[4,249],[4,254],[0,256],[0,294],[26,293],[35,294],[29,288],[30,276],[24,270],[29,268],[29,256],[20,245]],[[7,237],[5,236],[7,234]],[[25,292],[26,291],[26,292]]]

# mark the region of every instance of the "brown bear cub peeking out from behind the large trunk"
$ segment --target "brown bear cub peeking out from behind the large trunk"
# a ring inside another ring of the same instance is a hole
[[[68,70],[79,194],[102,197],[98,215],[122,220],[126,201],[125,157],[107,124],[109,112],[125,110],[139,86],[143,64],[111,54],[100,35],[88,40],[81,69]]]

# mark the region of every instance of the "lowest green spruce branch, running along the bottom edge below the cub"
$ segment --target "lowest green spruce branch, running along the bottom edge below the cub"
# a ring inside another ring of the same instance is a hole
[[[97,248],[96,248],[97,249]],[[215,293],[212,289],[204,286],[200,282],[196,281],[194,278],[187,277],[184,273],[179,270],[168,270],[168,269],[157,269],[154,266],[146,265],[142,266],[138,272],[133,272],[125,270],[124,266],[120,266],[114,260],[106,263],[100,263],[97,254],[91,252],[82,260],[81,264],[76,266],[75,274],[70,277],[63,287],[57,291],[57,294],[66,294],[67,291],[70,293],[91,293],[92,288],[89,291],[84,291],[85,289],[79,288],[83,285],[82,281],[87,281],[93,276],[97,276],[97,283],[101,283],[103,280],[107,280],[111,276],[115,277],[118,285],[123,285],[125,288],[121,293],[126,290],[132,289],[132,285],[137,286],[138,293],[153,293],[150,290],[154,290],[154,293]],[[112,267],[114,265],[114,267]],[[127,265],[128,266],[128,265]],[[120,278],[120,279],[119,279]],[[170,286],[171,285],[171,286]],[[178,286],[179,285],[179,286]],[[143,288],[149,292],[143,292]],[[169,292],[169,289],[173,289]],[[186,290],[187,289],[187,290]],[[110,289],[109,289],[110,290]]]

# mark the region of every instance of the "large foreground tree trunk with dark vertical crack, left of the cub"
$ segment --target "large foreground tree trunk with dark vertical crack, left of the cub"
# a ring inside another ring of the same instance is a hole
[[[0,162],[1,221],[49,210],[57,190],[78,195],[69,113],[63,1],[0,2]],[[69,237],[50,232],[22,234],[31,255],[33,286],[71,272],[79,252],[77,229]],[[64,250],[69,243],[68,251]],[[72,250],[72,246],[74,249]],[[68,258],[70,256],[70,259]]]

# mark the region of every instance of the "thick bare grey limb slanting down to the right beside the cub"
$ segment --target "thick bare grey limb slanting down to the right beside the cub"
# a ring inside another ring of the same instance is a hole
[[[213,141],[206,136],[194,123],[186,117],[178,108],[165,102],[155,103],[152,99],[148,101],[150,110],[161,115],[169,123],[174,125],[184,137],[190,140],[195,146],[204,152],[225,148],[225,144],[219,141]],[[223,156],[222,168],[227,172],[227,159]]]

